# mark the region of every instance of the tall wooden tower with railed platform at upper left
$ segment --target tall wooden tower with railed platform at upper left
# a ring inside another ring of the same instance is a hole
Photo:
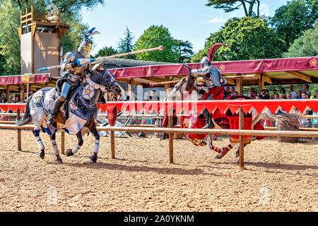
[[[56,8],[56,7],[55,7]],[[37,69],[58,65],[61,61],[61,38],[69,30],[69,25],[60,23],[59,9],[49,13],[36,13],[31,6],[31,12],[20,11],[21,74],[37,73]],[[48,71],[59,75],[59,70]]]

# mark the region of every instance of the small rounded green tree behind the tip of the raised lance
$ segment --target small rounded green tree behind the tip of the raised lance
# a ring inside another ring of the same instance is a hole
[[[145,30],[136,41],[134,51],[154,48],[160,45],[163,45],[165,48],[163,51],[136,54],[136,59],[177,63],[178,57],[174,51],[175,40],[171,37],[169,30],[163,27],[163,25],[151,25]]]

